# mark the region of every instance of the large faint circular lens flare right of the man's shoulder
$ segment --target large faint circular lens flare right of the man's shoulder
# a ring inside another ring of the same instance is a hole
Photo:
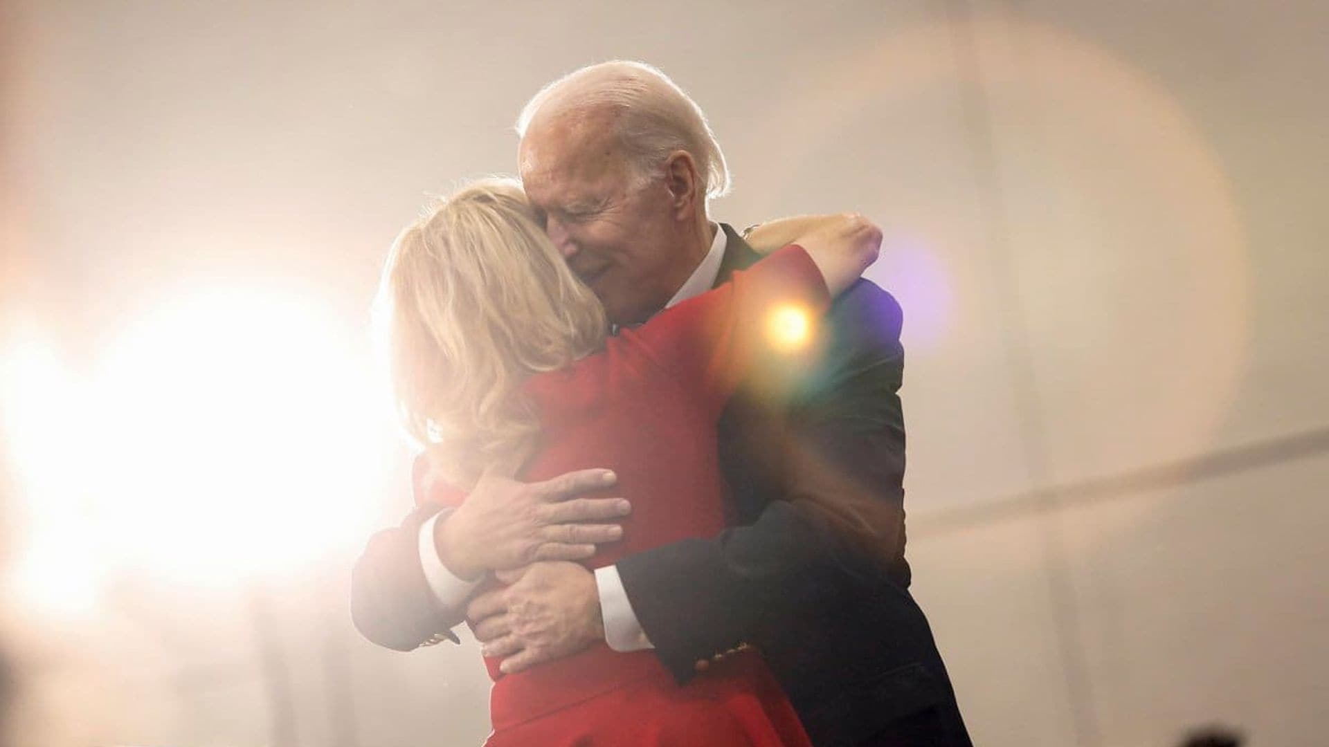
[[[969,40],[977,58],[957,62]],[[945,477],[916,492],[1019,492],[1231,439],[1253,364],[1252,247],[1213,130],[1167,78],[1070,29],[981,12],[958,31],[900,27],[799,76],[746,133],[780,158],[744,199],[779,213],[817,185],[824,205],[900,237],[867,276],[904,307],[910,397],[932,411],[914,443],[973,444],[917,449],[916,480]],[[956,112],[973,88],[986,114],[968,125]],[[847,141],[863,145],[845,156]],[[868,189],[825,178],[865,163],[881,174]],[[1027,374],[1010,371],[1021,358]],[[1006,452],[957,461],[987,451],[978,433],[1009,431],[1001,403],[1025,376],[1046,473]]]

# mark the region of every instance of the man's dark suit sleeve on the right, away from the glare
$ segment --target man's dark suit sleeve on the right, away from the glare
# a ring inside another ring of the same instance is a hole
[[[852,602],[864,578],[909,582],[900,308],[861,280],[828,324],[820,363],[776,408],[781,473],[764,494],[746,496],[755,516],[618,562],[642,629],[679,682],[698,659],[740,642],[762,647],[813,609]],[[872,546],[847,530],[864,522]]]

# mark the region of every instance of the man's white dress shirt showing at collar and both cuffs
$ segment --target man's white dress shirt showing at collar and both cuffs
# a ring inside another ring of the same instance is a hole
[[[692,270],[692,274],[683,282],[683,286],[678,288],[674,298],[668,299],[664,308],[702,295],[711,290],[715,279],[719,278],[720,263],[724,259],[726,238],[724,231],[718,225],[711,223],[711,230],[715,231],[715,238],[711,239],[711,249],[702,258],[696,270]],[[631,496],[629,496],[629,500],[631,500]],[[445,517],[448,513],[451,510],[444,509],[420,526],[420,565],[424,568],[424,578],[429,584],[429,589],[433,590],[435,597],[437,597],[439,603],[444,609],[455,610],[474,591],[476,586],[480,585],[480,580],[466,581],[459,578],[439,560],[439,549],[433,544],[433,526],[440,517]],[[609,643],[609,647],[615,651],[654,649],[642,630],[642,623],[637,621],[633,605],[627,601],[627,591],[623,589],[623,581],[618,576],[618,568],[606,565],[605,568],[595,569],[595,587],[599,591],[599,611],[605,619],[605,642]]]

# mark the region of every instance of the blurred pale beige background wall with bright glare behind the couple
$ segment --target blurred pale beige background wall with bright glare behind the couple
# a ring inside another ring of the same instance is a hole
[[[1324,4],[0,9],[15,744],[484,738],[473,643],[350,623],[409,505],[369,300],[427,197],[613,57],[708,114],[718,219],[886,226],[914,593],[975,743],[1322,744]]]

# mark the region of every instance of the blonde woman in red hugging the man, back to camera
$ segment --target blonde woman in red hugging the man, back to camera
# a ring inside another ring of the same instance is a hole
[[[397,238],[380,291],[396,400],[427,453],[416,500],[457,504],[488,471],[544,480],[610,467],[633,514],[587,568],[722,530],[715,423],[752,363],[779,355],[766,320],[820,314],[876,259],[881,234],[827,217],[752,241],[788,246],[607,336],[599,300],[516,182],[478,181],[435,205]],[[650,651],[603,643],[516,674],[486,666],[498,747],[808,744],[755,651],[686,686]]]

